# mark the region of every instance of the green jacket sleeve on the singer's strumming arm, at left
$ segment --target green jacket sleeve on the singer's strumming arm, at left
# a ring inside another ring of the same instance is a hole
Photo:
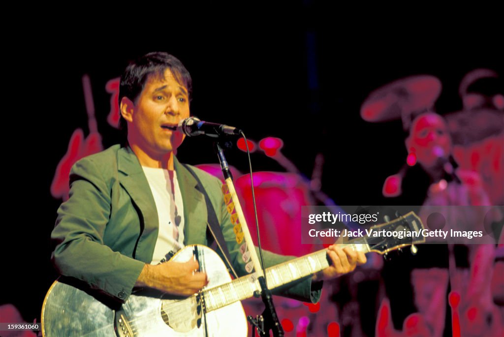
[[[110,185],[93,159],[84,158],[73,166],[70,197],[59,207],[51,233],[55,246],[51,259],[61,275],[124,301],[145,263],[103,243],[111,210]]]

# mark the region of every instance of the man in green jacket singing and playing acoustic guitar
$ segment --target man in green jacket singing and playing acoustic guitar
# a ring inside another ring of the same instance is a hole
[[[121,123],[127,144],[77,162],[70,197],[58,209],[51,238],[57,271],[125,301],[135,287],[189,296],[208,284],[199,264],[169,260],[188,244],[210,245],[207,223],[220,228],[237,276],[248,274],[217,178],[178,162],[184,135],[172,130],[190,116],[191,76],[174,56],[148,53],[121,77]],[[222,252],[221,256],[225,258]],[[275,293],[317,302],[322,280],[353,271],[362,252],[328,248],[331,266]],[[266,266],[292,257],[265,252]]]

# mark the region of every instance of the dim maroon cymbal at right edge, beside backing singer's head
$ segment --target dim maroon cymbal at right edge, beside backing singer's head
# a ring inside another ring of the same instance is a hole
[[[454,145],[470,145],[504,132],[504,113],[498,110],[461,110],[445,118]]]

